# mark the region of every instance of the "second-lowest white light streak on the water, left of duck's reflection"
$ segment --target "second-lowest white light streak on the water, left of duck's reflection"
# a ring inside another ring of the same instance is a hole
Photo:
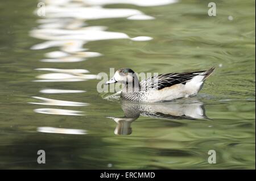
[[[69,115],[69,116],[84,116],[83,111],[53,109],[53,108],[39,108],[34,110],[37,113],[46,113],[49,115]]]

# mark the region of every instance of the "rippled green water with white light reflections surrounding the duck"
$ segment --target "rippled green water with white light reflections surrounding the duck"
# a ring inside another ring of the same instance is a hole
[[[204,1],[118,2],[46,1],[45,18],[0,2],[0,168],[255,169],[255,2],[215,1],[216,17]],[[199,95],[169,103],[96,89],[109,68],[212,66]]]

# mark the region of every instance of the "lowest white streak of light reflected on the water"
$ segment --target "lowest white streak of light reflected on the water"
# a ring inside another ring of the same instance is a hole
[[[42,133],[87,134],[87,131],[84,129],[67,129],[53,127],[38,127],[37,131]]]

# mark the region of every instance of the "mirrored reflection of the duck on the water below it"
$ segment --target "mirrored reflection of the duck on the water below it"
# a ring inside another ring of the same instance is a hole
[[[196,120],[207,118],[204,104],[199,100],[180,99],[156,104],[142,104],[130,102],[129,100],[121,100],[121,107],[125,116],[108,117],[117,123],[114,130],[114,134],[116,135],[131,134],[131,123],[137,120],[139,116],[171,120]]]

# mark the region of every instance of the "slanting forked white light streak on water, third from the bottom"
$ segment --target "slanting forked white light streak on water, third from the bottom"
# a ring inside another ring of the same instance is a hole
[[[33,96],[32,98],[42,100],[42,103],[32,103],[30,104],[40,104],[40,105],[49,105],[49,106],[88,106],[87,103],[65,101],[65,100],[56,100],[56,99],[47,99],[38,96]]]

